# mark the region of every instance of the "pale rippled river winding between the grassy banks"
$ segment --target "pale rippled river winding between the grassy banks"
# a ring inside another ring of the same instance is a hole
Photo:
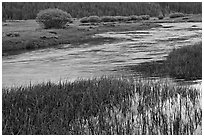
[[[51,80],[76,80],[102,75],[126,75],[117,68],[164,59],[174,48],[202,40],[202,23],[162,23],[149,30],[108,32],[94,37],[123,41],[77,48],[40,49],[3,57],[2,85],[20,86]]]

